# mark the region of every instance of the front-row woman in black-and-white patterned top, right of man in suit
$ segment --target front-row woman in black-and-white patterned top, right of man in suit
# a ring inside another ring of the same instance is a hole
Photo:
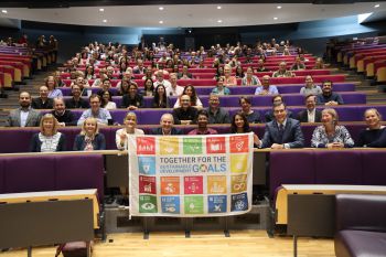
[[[339,117],[334,109],[326,108],[322,110],[322,126],[313,130],[311,147],[314,148],[352,148],[354,140],[349,130],[337,124]]]

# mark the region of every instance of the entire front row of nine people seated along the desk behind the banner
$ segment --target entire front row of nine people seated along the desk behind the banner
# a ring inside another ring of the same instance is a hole
[[[254,133],[254,143],[257,148],[290,149],[304,147],[304,137],[301,131],[300,122],[287,117],[287,108],[283,103],[274,105],[275,119],[266,124],[264,137],[260,139]],[[372,108],[365,111],[365,121],[367,128],[360,135],[360,140],[354,144],[349,130],[339,125],[339,116],[332,108],[322,111],[322,125],[318,126],[311,139],[313,148],[352,148],[356,147],[386,147],[386,129],[380,125],[379,113]],[[131,135],[143,135],[143,130],[137,128],[137,116],[135,113],[128,113],[124,120],[125,127],[116,131],[117,149],[127,149],[127,137]],[[174,119],[171,114],[164,114],[161,117],[161,127],[152,130],[152,135],[183,135],[175,128]],[[214,135],[215,129],[208,128],[208,114],[206,110],[200,110],[197,115],[197,128],[190,131],[189,135]],[[98,131],[98,121],[95,118],[86,118],[82,126],[82,131],[76,136],[73,150],[92,151],[105,150],[106,140],[103,133]],[[40,132],[32,137],[30,151],[33,152],[53,152],[66,150],[65,136],[57,131],[58,121],[52,114],[43,116],[40,122]],[[237,113],[230,124],[232,133],[250,132],[249,122],[244,113]]]

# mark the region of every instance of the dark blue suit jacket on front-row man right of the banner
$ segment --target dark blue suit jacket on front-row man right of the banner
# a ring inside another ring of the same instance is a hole
[[[287,118],[282,140],[280,140],[279,126],[276,120],[268,122],[261,140],[261,148],[269,148],[272,143],[288,143],[290,148],[302,148],[304,146],[304,137],[300,122],[296,119]]]

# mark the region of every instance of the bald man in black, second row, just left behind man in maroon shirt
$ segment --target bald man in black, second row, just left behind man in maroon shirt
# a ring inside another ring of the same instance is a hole
[[[182,95],[180,97],[181,107],[173,109],[173,118],[176,125],[195,124],[197,120],[197,109],[191,106],[191,97]]]

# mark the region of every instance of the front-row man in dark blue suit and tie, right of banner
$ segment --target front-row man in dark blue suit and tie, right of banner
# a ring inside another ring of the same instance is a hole
[[[259,148],[289,149],[302,148],[304,137],[300,122],[287,118],[287,109],[283,103],[274,105],[275,120],[266,125],[266,131],[261,140],[258,139]]]

